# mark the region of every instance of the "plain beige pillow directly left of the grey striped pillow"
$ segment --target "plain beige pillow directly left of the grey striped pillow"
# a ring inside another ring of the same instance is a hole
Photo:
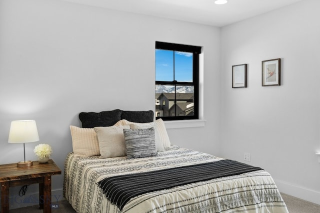
[[[100,158],[126,156],[123,129],[129,125],[94,127],[100,149]]]

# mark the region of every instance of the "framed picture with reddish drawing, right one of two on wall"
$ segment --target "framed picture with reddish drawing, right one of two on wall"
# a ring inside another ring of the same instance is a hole
[[[280,58],[262,60],[262,86],[280,85]]]

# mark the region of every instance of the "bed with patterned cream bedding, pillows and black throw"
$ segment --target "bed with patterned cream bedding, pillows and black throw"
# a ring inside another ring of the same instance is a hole
[[[77,212],[288,212],[267,171],[172,145],[152,111],[79,118],[63,182]]]

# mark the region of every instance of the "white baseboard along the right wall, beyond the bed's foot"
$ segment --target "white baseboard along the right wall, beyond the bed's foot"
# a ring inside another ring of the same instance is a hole
[[[291,183],[288,183],[282,180],[274,179],[274,182],[280,192],[320,205],[319,191],[315,191],[309,188],[304,188],[299,185],[293,185]]]

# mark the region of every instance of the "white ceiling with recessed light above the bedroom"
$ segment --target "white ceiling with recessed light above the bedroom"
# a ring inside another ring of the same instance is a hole
[[[225,26],[301,0],[64,0],[157,17]]]

